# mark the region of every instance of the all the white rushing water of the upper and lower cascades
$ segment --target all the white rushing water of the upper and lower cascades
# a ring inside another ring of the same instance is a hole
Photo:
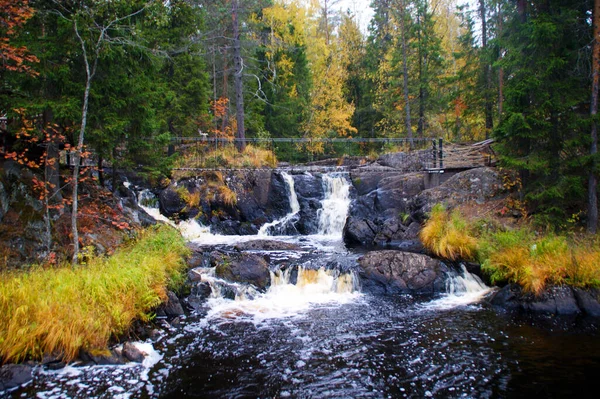
[[[298,196],[295,191],[293,176],[282,172],[286,183],[290,204],[290,212],[281,219],[263,225],[256,236],[223,236],[210,233],[210,229],[199,225],[195,220],[182,221],[175,225],[160,214],[157,208],[144,209],[157,220],[169,223],[178,228],[183,236],[202,245],[235,245],[240,242],[264,239],[273,229],[285,227],[293,223],[300,211]],[[300,244],[304,254],[322,253],[321,257],[347,257],[348,252],[342,241],[342,231],[350,206],[350,182],[346,176],[324,175],[322,178],[324,198],[318,211],[318,234],[312,236],[277,236],[273,239]],[[271,257],[295,259],[297,251],[263,251]],[[344,304],[360,297],[358,276],[355,272],[341,273],[329,270],[324,266],[307,269],[297,266],[298,276],[295,284],[291,283],[290,270],[271,271],[271,285],[264,293],[259,293],[250,286],[231,284],[236,291],[235,300],[226,299],[221,293],[227,282],[215,277],[214,269],[200,269],[202,281],[208,282],[212,289],[208,300],[210,308],[207,319],[214,317],[251,318],[260,321],[270,318],[287,317],[301,313],[311,306],[323,304]],[[422,305],[425,309],[450,309],[479,302],[489,292],[476,276],[466,269],[462,274],[450,276],[446,283],[447,295]]]

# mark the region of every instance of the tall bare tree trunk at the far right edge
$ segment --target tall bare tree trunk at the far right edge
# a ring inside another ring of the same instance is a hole
[[[588,224],[587,230],[596,234],[598,230],[598,179],[596,177],[596,154],[598,152],[598,124],[596,122],[598,114],[598,88],[600,85],[600,0],[594,0],[593,12],[594,41],[592,50],[592,101],[590,104],[590,115],[592,118],[592,144],[590,146],[590,155],[592,156],[592,165],[588,178]]]

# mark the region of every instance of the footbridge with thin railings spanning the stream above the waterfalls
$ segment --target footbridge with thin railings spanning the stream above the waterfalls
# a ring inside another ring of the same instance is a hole
[[[493,140],[478,143],[448,143],[441,138],[246,138],[176,137],[169,145],[169,155],[185,154],[185,164],[174,168],[180,171],[249,171],[259,169],[248,166],[221,165],[209,162],[210,154],[230,151],[243,142],[271,151],[282,161],[277,168],[290,171],[331,172],[360,169],[369,170],[380,154],[403,153],[403,161],[395,169],[405,172],[427,171],[443,174],[495,163],[491,148]],[[319,151],[315,151],[319,149]],[[370,161],[368,161],[370,159]],[[223,162],[225,163],[225,162]],[[269,169],[263,167],[264,169]],[[381,172],[382,169],[373,169]]]

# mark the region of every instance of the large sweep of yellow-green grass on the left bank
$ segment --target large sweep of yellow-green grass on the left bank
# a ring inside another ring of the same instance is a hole
[[[0,274],[2,362],[44,354],[70,361],[80,349],[106,349],[135,319],[151,319],[167,290],[182,285],[186,253],[180,234],[161,226],[110,258],[75,269]]]

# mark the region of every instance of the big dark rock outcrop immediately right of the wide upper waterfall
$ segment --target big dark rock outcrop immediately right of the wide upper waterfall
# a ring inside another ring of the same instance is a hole
[[[390,154],[389,165],[400,163]],[[382,162],[382,161],[380,161]],[[503,195],[502,179],[494,168],[457,173],[441,185],[426,189],[426,172],[403,173],[389,166],[352,171],[353,201],[344,228],[349,246],[392,246],[419,251],[418,232],[433,205],[449,208]]]

